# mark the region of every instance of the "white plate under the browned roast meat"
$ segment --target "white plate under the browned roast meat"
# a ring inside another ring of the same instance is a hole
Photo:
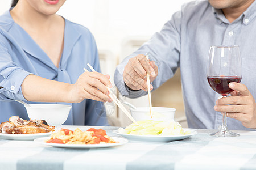
[[[31,141],[40,137],[48,137],[52,132],[48,133],[35,133],[35,134],[5,134],[0,133],[0,139],[9,139],[17,141]]]

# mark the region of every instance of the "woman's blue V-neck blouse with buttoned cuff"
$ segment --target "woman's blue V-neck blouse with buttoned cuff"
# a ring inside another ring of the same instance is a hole
[[[3,87],[0,89],[0,122],[8,121],[10,116],[28,119],[24,106],[14,101],[26,101],[20,85],[27,75],[73,84],[87,63],[100,71],[96,43],[87,28],[65,19],[64,49],[56,67],[30,35],[14,22],[10,12],[5,12],[0,16],[0,87]],[[65,125],[108,125],[105,107],[99,101],[85,99],[77,104],[61,104],[72,105]]]

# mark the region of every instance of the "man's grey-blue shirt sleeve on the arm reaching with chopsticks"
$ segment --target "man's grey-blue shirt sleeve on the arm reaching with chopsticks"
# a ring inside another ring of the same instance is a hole
[[[135,98],[146,95],[143,90],[131,91],[125,86],[122,74],[130,58],[138,54],[148,53],[150,60],[155,61],[158,66],[158,76],[152,82],[153,90],[160,87],[164,82],[174,76],[177,67],[179,67],[180,57],[180,28],[181,11],[176,12],[171,20],[164,24],[160,32],[156,32],[149,41],[144,43],[136,52],[126,57],[122,63],[117,66],[114,74],[115,86],[117,86],[122,96]]]

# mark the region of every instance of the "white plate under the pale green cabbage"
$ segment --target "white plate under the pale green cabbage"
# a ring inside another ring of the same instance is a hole
[[[134,135],[119,133],[118,130],[113,130],[113,133],[129,139],[129,141],[143,141],[143,142],[170,142],[188,138],[197,134],[195,130],[183,128],[184,131],[191,131],[191,134],[173,135],[173,136],[158,136],[158,135]]]

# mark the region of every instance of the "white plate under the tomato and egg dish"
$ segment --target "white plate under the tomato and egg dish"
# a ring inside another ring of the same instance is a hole
[[[53,146],[53,147],[64,147],[64,148],[100,148],[100,147],[112,147],[112,146],[118,146],[123,145],[125,143],[128,143],[128,140],[125,138],[119,138],[119,137],[111,137],[114,139],[117,143],[104,143],[104,144],[61,144],[61,143],[47,143],[46,140],[49,139],[49,137],[44,138],[37,138],[34,141],[43,145]]]

